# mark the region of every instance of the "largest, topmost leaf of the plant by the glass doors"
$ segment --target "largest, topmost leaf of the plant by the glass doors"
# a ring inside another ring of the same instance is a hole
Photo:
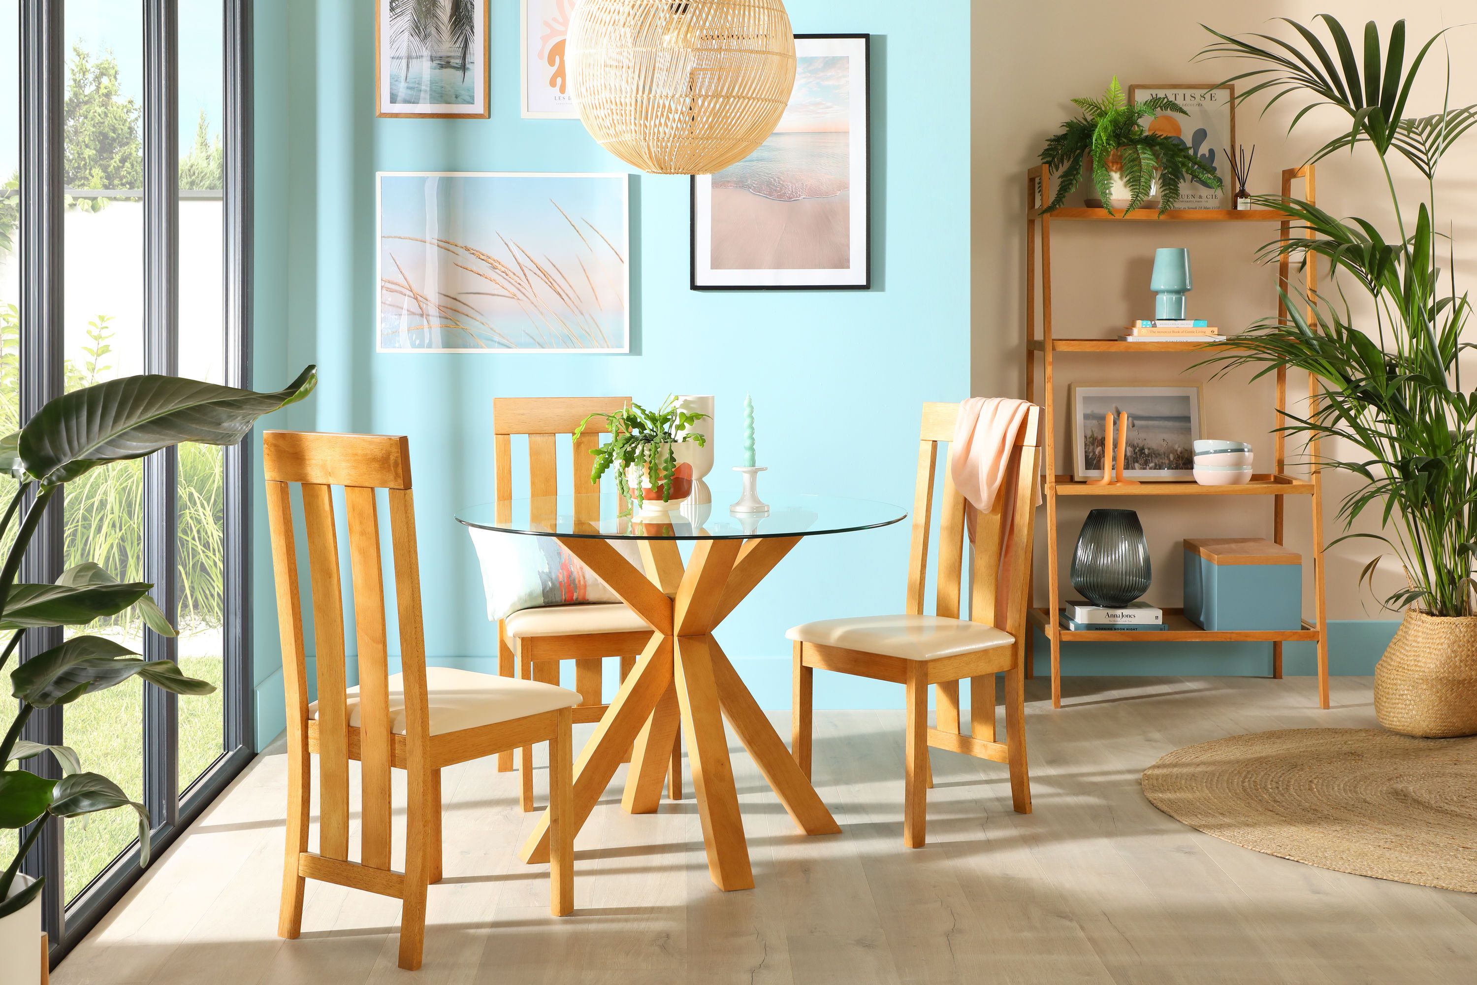
[[[182,442],[233,445],[256,419],[313,391],[316,366],[285,390],[256,393],[180,377],[142,375],[74,390],[21,430],[21,459],[43,484]]]

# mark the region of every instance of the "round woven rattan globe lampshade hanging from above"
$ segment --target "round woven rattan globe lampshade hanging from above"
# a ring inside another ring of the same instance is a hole
[[[749,157],[795,87],[783,0],[580,0],[567,37],[585,128],[651,174],[712,174]]]

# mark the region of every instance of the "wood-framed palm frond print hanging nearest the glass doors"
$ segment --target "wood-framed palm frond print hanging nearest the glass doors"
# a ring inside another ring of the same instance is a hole
[[[487,117],[490,0],[375,0],[375,115]]]

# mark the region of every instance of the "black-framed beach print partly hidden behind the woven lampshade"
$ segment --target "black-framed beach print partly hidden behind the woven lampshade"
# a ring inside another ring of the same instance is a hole
[[[796,34],[780,126],[693,177],[694,291],[870,286],[868,40]]]

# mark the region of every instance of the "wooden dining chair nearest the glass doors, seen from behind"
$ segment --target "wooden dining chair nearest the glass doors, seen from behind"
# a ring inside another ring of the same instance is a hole
[[[425,888],[442,877],[442,768],[535,741],[549,743],[549,908],[555,916],[570,913],[575,907],[570,725],[579,696],[551,684],[425,666],[408,440],[267,431],[263,459],[287,693],[287,858],[278,936],[298,936],[304,880],[319,879],[400,899],[400,967],[419,967]],[[301,487],[307,535],[315,701],[309,701],[291,484]],[[359,644],[359,682],[353,687],[347,685],[334,486],[343,487],[349,535]],[[390,508],[399,673],[390,673],[385,634],[380,489],[387,490]],[[310,753],[318,753],[316,852],[307,851]],[[360,762],[359,861],[349,858],[350,759]],[[408,789],[400,873],[390,868],[391,768],[405,769]]]

